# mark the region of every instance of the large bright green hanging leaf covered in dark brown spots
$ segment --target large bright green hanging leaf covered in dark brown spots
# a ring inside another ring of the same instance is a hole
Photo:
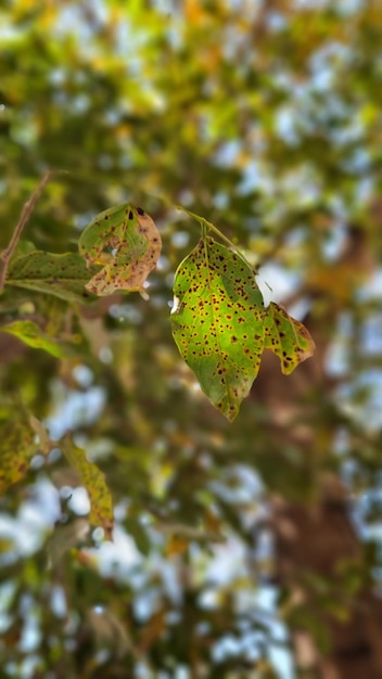
[[[264,304],[254,273],[238,254],[202,239],[178,267],[174,294],[179,351],[214,406],[232,421],[264,347]]]

